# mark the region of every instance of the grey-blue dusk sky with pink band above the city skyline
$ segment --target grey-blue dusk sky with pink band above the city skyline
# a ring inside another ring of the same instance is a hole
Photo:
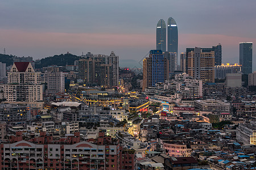
[[[185,48],[222,44],[222,62],[239,62],[239,42],[256,43],[255,0],[13,0],[0,2],[0,53],[34,59],[82,52],[140,61],[155,49],[156,24],[171,16]],[[254,50],[255,51],[255,50]],[[179,56],[178,56],[179,58]],[[253,70],[256,55],[253,52]]]

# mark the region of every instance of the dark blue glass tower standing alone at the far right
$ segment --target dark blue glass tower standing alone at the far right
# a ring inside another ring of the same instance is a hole
[[[253,72],[253,42],[240,42],[240,65],[242,73],[250,74]]]

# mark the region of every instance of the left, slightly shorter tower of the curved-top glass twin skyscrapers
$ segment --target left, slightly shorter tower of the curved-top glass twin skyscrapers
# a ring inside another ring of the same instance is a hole
[[[156,50],[166,52],[166,22],[163,19],[156,25]]]

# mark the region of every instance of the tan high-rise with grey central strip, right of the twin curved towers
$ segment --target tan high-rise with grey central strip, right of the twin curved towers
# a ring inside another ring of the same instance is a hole
[[[188,74],[205,82],[214,82],[214,51],[202,52],[196,47],[188,52]]]

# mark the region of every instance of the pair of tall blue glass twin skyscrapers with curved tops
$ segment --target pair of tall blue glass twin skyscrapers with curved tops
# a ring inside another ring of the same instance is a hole
[[[167,50],[166,50],[167,44]],[[168,18],[167,21],[167,43],[166,43],[166,22],[160,19],[156,25],[156,50],[162,50],[163,52],[169,52],[168,56],[175,56],[174,62],[170,63],[170,72],[177,69],[177,49],[178,49],[178,32],[177,24],[173,18]],[[174,65],[174,67],[171,67]],[[174,70],[172,70],[174,69]]]

